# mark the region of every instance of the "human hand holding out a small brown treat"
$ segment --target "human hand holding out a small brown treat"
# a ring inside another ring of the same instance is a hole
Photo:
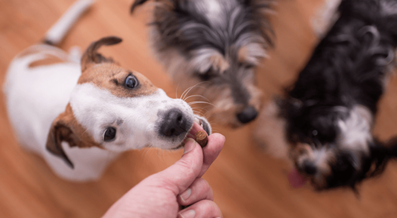
[[[218,218],[212,188],[201,178],[216,159],[225,137],[214,133],[202,148],[187,139],[181,159],[130,189],[103,218]],[[189,206],[190,205],[190,206]],[[181,210],[181,206],[188,206]]]

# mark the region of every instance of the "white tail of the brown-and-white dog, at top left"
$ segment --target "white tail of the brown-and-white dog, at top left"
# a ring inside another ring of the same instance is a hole
[[[43,43],[58,45],[77,19],[94,3],[95,0],[76,1],[62,17],[45,34]]]

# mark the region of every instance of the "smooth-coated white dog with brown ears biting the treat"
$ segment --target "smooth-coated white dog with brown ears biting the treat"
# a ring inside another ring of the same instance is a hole
[[[70,21],[88,6],[76,5],[46,42],[60,41]],[[119,42],[118,37],[93,42],[81,63],[54,46],[34,45],[9,65],[4,93],[20,144],[42,156],[62,178],[96,180],[123,151],[178,149],[189,132],[211,133],[208,122],[185,101],[169,98],[142,74],[97,52]],[[61,62],[35,65],[50,58]]]

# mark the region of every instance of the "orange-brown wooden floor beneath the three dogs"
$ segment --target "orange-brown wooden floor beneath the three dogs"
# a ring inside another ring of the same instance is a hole
[[[73,0],[0,0],[0,83],[7,65],[24,48],[38,42]],[[271,18],[276,49],[258,70],[267,97],[294,81],[316,37],[309,18],[321,0],[280,0]],[[145,74],[175,96],[175,87],[148,48],[147,9],[129,15],[132,0],[98,0],[70,31],[61,47],[86,48],[106,35],[124,38],[103,48],[123,66]],[[180,90],[179,90],[179,93]],[[375,128],[381,139],[397,133],[397,80],[380,105]],[[1,95],[3,102],[3,96]],[[226,136],[219,158],[204,175],[225,218],[396,218],[397,165],[364,182],[360,197],[350,190],[313,192],[293,189],[288,166],[264,154],[251,141],[253,125],[238,130],[215,126]],[[4,104],[0,106],[0,217],[99,218],[127,190],[150,174],[175,162],[182,152],[131,151],[107,169],[99,182],[75,184],[57,178],[44,161],[22,151],[12,133]]]

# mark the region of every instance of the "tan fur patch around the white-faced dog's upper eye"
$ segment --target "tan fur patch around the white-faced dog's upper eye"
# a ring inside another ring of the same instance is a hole
[[[138,86],[125,87],[126,78],[132,73],[138,80]],[[117,97],[136,97],[155,93],[158,88],[145,76],[122,68],[116,63],[99,63],[87,68],[80,76],[78,84],[94,83],[101,89],[108,90]]]

